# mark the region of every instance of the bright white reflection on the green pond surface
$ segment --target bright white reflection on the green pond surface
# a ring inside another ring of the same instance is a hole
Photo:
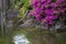
[[[30,44],[29,40],[25,37],[25,35],[15,35],[13,37],[14,44]]]

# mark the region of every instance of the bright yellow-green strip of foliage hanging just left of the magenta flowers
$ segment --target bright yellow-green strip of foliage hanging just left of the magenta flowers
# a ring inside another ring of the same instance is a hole
[[[25,12],[26,12],[26,10],[29,10],[28,8],[30,7],[30,0],[26,0],[25,2],[24,2],[24,4],[22,6],[22,8],[20,9],[20,18],[23,18],[24,19],[24,16],[25,16]]]

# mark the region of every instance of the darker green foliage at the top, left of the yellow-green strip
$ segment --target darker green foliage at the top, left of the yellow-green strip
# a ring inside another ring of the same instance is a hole
[[[11,0],[10,4],[11,4],[11,8],[19,9],[20,7],[24,4],[25,1],[26,0]]]

